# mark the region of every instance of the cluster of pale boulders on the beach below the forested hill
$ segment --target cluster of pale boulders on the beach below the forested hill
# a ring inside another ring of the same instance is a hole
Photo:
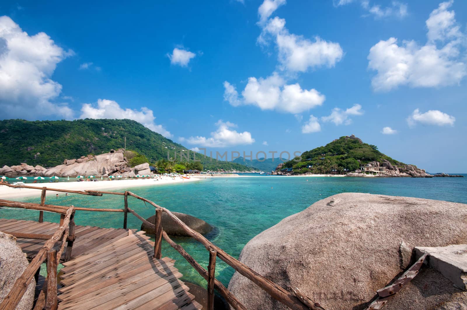
[[[62,165],[52,168],[42,166],[30,166],[22,162],[17,166],[3,166],[0,175],[6,176],[136,176],[150,175],[149,163],[145,162],[134,168],[129,166],[124,150],[111,150],[110,153],[100,155],[81,156],[78,159],[65,159]]]

